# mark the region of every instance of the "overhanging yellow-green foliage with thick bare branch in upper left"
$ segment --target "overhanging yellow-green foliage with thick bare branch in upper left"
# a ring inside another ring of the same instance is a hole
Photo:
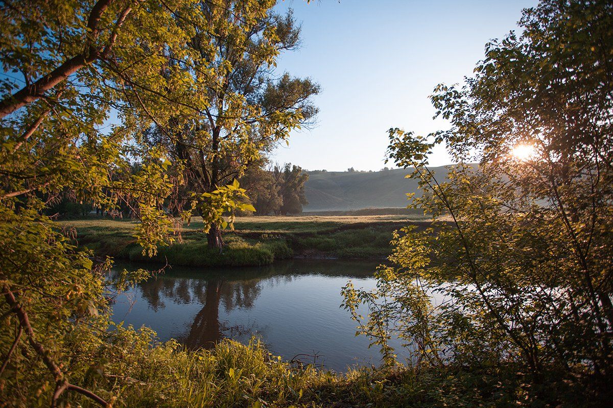
[[[153,198],[144,199],[143,191],[139,198],[131,194],[145,174],[132,174],[124,131],[131,116],[155,111],[161,118],[179,109],[177,103],[160,106],[152,98],[156,86],[173,81],[156,75],[158,53],[169,46],[181,49],[188,40],[189,32],[175,24],[172,12],[191,7],[191,2],[175,6],[169,10],[156,2],[112,0],[4,3],[4,202],[30,192],[49,200],[65,191],[77,202],[91,201],[109,210],[118,201],[132,200],[139,213],[148,215],[143,217],[143,233],[154,229],[152,223],[159,217],[154,215],[158,209],[152,207]],[[142,103],[126,98],[126,89],[138,89],[132,96]],[[186,97],[186,87],[175,89]],[[126,125],[105,133],[102,126],[112,109]],[[143,158],[155,156],[147,152]],[[150,167],[146,176],[161,170]]]

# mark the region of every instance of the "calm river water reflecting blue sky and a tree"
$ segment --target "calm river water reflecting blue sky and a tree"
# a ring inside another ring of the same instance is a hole
[[[173,267],[121,294],[113,320],[147,325],[161,341],[175,338],[191,348],[211,347],[222,338],[246,343],[256,335],[288,361],[308,354],[318,357],[300,356],[303,362],[336,371],[377,366],[378,348],[369,349],[365,336],[355,336],[356,323],[340,308],[341,287],[348,280],[356,287],[374,287],[376,265],[294,259],[266,267]]]

